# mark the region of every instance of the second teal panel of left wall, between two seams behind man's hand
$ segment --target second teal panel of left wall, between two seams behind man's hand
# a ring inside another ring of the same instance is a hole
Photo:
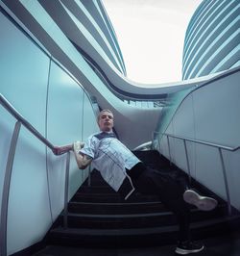
[[[83,89],[64,72],[60,66],[51,64],[48,109],[47,138],[55,145],[79,141],[82,137]],[[49,190],[53,218],[63,208],[66,155],[54,156],[48,152]],[[81,171],[71,153],[69,196],[83,182]]]

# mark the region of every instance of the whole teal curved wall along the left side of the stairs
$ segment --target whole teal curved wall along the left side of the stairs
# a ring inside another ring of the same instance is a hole
[[[82,140],[84,112],[95,120],[91,102],[83,88],[4,13],[0,13],[0,23],[0,92],[53,144]],[[85,102],[88,105],[84,109]],[[14,122],[12,115],[0,106],[1,200]],[[96,122],[89,131],[93,132],[95,128],[97,131]],[[60,215],[65,159],[65,155],[55,156],[25,127],[21,127],[13,159],[7,209],[8,255],[41,241]],[[77,168],[71,154],[69,198],[84,182],[86,175],[86,170]],[[0,231],[5,232],[1,228]],[[3,243],[1,241],[1,248],[5,245]]]

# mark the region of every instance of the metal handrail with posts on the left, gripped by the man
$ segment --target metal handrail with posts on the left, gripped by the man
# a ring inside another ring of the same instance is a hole
[[[1,239],[1,248],[0,255],[7,255],[7,219],[8,219],[8,205],[9,205],[9,193],[11,186],[11,177],[12,177],[12,164],[14,160],[14,153],[16,148],[16,143],[18,140],[19,131],[21,125],[23,125],[27,130],[29,130],[39,141],[42,141],[50,149],[54,149],[54,145],[46,140],[36,128],[28,122],[22,115],[20,115],[13,107],[12,104],[0,93],[0,104],[11,114],[17,121],[15,123],[15,128],[12,134],[12,142],[9,150],[8,161],[5,171],[4,185],[3,185],[3,194],[2,194],[2,204],[1,204],[1,216],[0,216],[0,239]],[[65,190],[64,190],[64,227],[67,225],[67,201],[68,201],[68,182],[69,182],[69,165],[70,165],[70,153],[67,153],[66,160],[66,171],[65,171]]]

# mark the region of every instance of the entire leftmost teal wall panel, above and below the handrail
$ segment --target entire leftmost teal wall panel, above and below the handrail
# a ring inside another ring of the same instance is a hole
[[[49,58],[2,13],[0,22],[0,92],[44,136]],[[1,109],[1,141],[6,154],[15,121],[10,115],[5,119],[7,115]],[[42,142],[22,128],[12,166],[8,254],[38,242],[51,224],[45,153]]]

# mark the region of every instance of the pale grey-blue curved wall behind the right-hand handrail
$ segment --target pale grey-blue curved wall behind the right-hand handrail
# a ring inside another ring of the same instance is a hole
[[[232,148],[240,146],[239,77],[238,68],[190,92],[181,102],[166,133]],[[187,172],[183,141],[172,138],[169,141],[170,154],[166,137],[160,141],[161,153]],[[219,149],[189,141],[186,146],[191,176],[212,192],[227,199]],[[237,160],[240,150],[224,149],[222,152],[227,170],[230,202],[240,209],[239,186],[236,183],[236,180],[240,180]]]

